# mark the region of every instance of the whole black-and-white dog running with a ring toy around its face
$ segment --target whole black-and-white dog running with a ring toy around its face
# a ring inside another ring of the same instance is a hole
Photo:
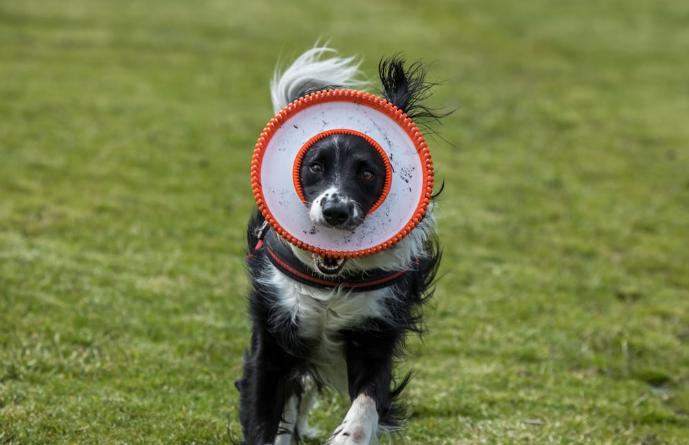
[[[359,64],[329,48],[302,54],[271,83],[276,112],[295,99],[349,87]],[[422,104],[431,83],[421,63],[400,56],[381,61],[380,96],[413,120],[438,116]],[[288,168],[288,167],[286,167]],[[302,159],[299,181],[314,225],[350,230],[380,196],[384,165],[360,136],[335,134]],[[319,391],[351,398],[330,444],[371,444],[400,428],[398,396],[409,375],[396,379],[407,334],[422,333],[422,311],[432,293],[440,252],[433,203],[409,235],[371,256],[333,259],[299,249],[265,225],[256,211],[247,232],[252,289],[251,348],[245,353],[240,423],[248,445],[289,445],[316,431],[307,416]],[[332,282],[333,284],[328,284]],[[354,282],[356,286],[343,286]]]

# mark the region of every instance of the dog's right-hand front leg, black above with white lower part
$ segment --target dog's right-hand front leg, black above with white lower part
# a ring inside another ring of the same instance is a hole
[[[394,426],[397,420],[393,408],[397,391],[390,386],[398,335],[393,330],[362,330],[346,332],[345,339],[352,403],[330,443],[369,445],[375,442],[379,424]]]

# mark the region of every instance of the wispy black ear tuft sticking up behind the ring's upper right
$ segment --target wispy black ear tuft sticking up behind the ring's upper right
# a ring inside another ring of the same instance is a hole
[[[378,74],[382,84],[381,96],[405,112],[417,124],[439,121],[449,113],[438,112],[424,102],[431,97],[431,90],[437,82],[426,81],[429,67],[416,61],[405,67],[407,61],[402,54],[395,54],[378,63]]]

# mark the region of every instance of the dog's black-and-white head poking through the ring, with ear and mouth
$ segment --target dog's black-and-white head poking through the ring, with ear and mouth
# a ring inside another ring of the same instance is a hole
[[[417,62],[404,67],[402,56],[382,60],[378,71],[380,96],[398,107],[411,120],[437,120],[440,115],[425,107],[432,83],[427,83],[426,67]],[[311,83],[307,86],[310,87]],[[302,90],[305,96],[314,90]],[[336,132],[309,145],[298,161],[300,197],[315,227],[354,231],[384,200],[391,180],[391,167],[380,147],[358,134]],[[308,253],[298,254],[303,259]],[[345,258],[312,255],[316,269],[334,275],[344,269]]]

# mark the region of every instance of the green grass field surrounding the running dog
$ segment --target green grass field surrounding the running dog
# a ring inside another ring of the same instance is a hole
[[[689,3],[0,3],[0,444],[238,436],[249,163],[322,36],[434,63],[409,444],[689,437]],[[347,406],[326,395],[322,441]]]

